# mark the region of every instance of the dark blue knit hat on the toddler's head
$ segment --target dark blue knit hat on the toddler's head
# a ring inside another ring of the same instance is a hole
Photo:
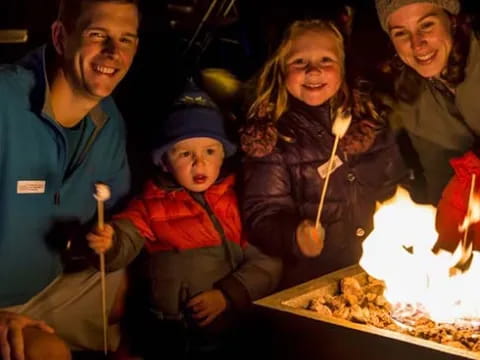
[[[153,163],[157,166],[162,165],[163,155],[173,145],[181,140],[196,137],[220,141],[226,157],[236,151],[236,146],[227,138],[222,113],[204,91],[190,82],[161,125],[160,139],[152,152]]]

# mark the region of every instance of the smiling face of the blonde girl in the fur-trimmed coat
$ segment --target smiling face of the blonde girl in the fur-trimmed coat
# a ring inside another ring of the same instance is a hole
[[[301,33],[285,60],[288,92],[308,105],[325,103],[342,84],[339,40],[331,31]]]

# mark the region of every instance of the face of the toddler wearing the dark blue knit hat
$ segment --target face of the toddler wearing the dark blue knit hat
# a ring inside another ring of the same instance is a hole
[[[222,143],[207,137],[179,141],[167,152],[168,167],[177,182],[194,192],[215,183],[224,156]]]

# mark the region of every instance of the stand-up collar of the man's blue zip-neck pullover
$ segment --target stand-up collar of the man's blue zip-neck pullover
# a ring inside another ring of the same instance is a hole
[[[44,118],[53,120],[50,86],[47,76],[47,63],[53,61],[54,50],[49,45],[43,45],[18,61],[18,65],[31,70],[35,76],[35,85],[31,93],[32,110]],[[108,120],[108,115],[103,111],[101,102],[88,114],[96,127],[102,127]]]

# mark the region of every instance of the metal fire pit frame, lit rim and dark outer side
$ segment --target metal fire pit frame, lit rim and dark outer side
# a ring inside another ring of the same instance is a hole
[[[351,266],[255,302],[272,323],[281,359],[456,360],[480,359],[457,349],[370,325],[355,324],[306,310],[309,300],[338,293],[339,281],[352,276],[365,284],[366,273]]]

